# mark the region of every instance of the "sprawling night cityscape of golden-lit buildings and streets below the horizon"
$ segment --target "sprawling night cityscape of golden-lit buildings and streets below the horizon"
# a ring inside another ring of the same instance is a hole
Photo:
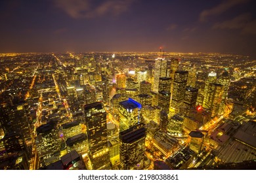
[[[0,169],[255,169],[255,62],[0,54]]]

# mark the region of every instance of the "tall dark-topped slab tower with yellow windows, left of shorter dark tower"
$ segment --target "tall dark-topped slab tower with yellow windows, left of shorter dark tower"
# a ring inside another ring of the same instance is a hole
[[[184,102],[186,91],[186,82],[188,80],[188,71],[176,71],[173,82],[173,93],[171,99],[171,107],[175,108],[175,113],[179,112],[179,108]]]

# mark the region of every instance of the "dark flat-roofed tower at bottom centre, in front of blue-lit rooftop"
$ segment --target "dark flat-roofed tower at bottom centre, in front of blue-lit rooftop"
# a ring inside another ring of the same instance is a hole
[[[119,156],[123,170],[143,169],[146,127],[138,124],[119,133]]]

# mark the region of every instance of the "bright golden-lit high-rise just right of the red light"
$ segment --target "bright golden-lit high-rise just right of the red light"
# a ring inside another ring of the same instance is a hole
[[[223,85],[210,83],[207,90],[207,95],[203,100],[203,108],[211,111],[211,117],[215,117],[218,114],[222,97]]]

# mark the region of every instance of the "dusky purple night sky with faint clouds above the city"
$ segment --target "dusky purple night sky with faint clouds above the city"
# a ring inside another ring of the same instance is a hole
[[[256,58],[255,0],[1,0],[0,52],[221,52]]]

